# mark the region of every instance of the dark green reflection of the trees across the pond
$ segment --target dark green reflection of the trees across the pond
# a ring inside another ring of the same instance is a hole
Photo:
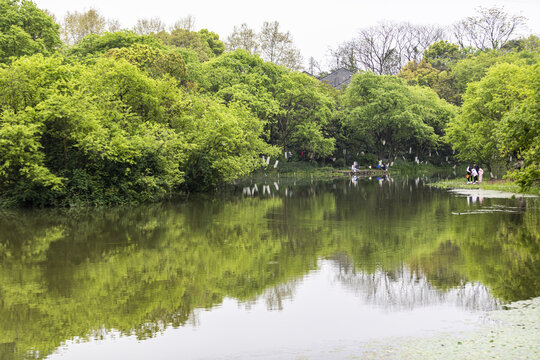
[[[1,355],[43,358],[111,329],[146,339],[196,324],[196,309],[225,297],[280,310],[321,259],[388,310],[448,300],[485,310],[539,295],[535,200],[467,205],[421,179],[277,183],[255,197],[3,212]],[[520,210],[452,215],[471,206]]]

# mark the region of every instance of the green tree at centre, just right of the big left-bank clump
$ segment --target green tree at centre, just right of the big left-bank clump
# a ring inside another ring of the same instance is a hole
[[[202,65],[201,88],[226,104],[243,104],[266,124],[269,142],[285,151],[324,157],[333,150],[325,136],[335,108],[330,89],[305,74],[236,50]]]

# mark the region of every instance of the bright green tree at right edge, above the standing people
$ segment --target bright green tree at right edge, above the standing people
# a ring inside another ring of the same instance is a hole
[[[447,130],[461,159],[479,161],[491,171],[496,163],[503,162],[503,155],[519,156],[536,146],[537,69],[538,65],[502,63],[491,67],[480,81],[469,84],[463,109]]]

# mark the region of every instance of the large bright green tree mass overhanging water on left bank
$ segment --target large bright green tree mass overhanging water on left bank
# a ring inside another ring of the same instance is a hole
[[[250,111],[188,95],[183,65],[174,51],[136,44],[90,65],[33,56],[0,69],[2,196],[154,201],[247,175],[275,154]]]

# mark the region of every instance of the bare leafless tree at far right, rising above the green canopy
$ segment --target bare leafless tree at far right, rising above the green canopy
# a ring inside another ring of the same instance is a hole
[[[454,24],[453,32],[461,47],[500,49],[525,23],[524,16],[510,15],[503,8],[480,7],[476,16],[469,16]]]

